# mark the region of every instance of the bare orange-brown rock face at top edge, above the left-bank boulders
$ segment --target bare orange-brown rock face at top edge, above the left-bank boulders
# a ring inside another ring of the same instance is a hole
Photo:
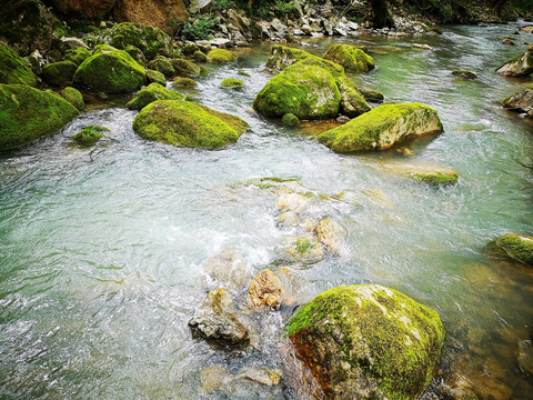
[[[161,29],[170,27],[171,18],[189,18],[182,0],[117,0],[113,14],[121,22],[140,22]]]

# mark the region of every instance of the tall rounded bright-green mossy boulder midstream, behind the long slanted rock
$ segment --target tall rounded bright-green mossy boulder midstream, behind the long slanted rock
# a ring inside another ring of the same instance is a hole
[[[290,112],[299,119],[326,119],[339,113],[340,103],[333,74],[322,62],[306,59],[273,77],[255,97],[253,108],[273,118]]]

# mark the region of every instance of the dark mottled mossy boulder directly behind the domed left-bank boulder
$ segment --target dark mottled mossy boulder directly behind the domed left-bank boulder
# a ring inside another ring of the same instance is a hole
[[[170,56],[172,38],[161,29],[142,23],[122,22],[107,32],[104,40],[110,38],[110,44],[118,49],[134,46],[140,49],[148,60],[155,56]]]

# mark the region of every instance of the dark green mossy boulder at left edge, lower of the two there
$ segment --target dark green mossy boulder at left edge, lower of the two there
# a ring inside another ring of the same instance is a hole
[[[0,83],[0,150],[23,147],[63,128],[78,110],[53,92]]]

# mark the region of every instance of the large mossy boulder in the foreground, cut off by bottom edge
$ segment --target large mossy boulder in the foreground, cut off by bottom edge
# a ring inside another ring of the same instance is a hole
[[[434,310],[378,284],[316,296],[286,332],[330,399],[418,399],[444,340]]]

